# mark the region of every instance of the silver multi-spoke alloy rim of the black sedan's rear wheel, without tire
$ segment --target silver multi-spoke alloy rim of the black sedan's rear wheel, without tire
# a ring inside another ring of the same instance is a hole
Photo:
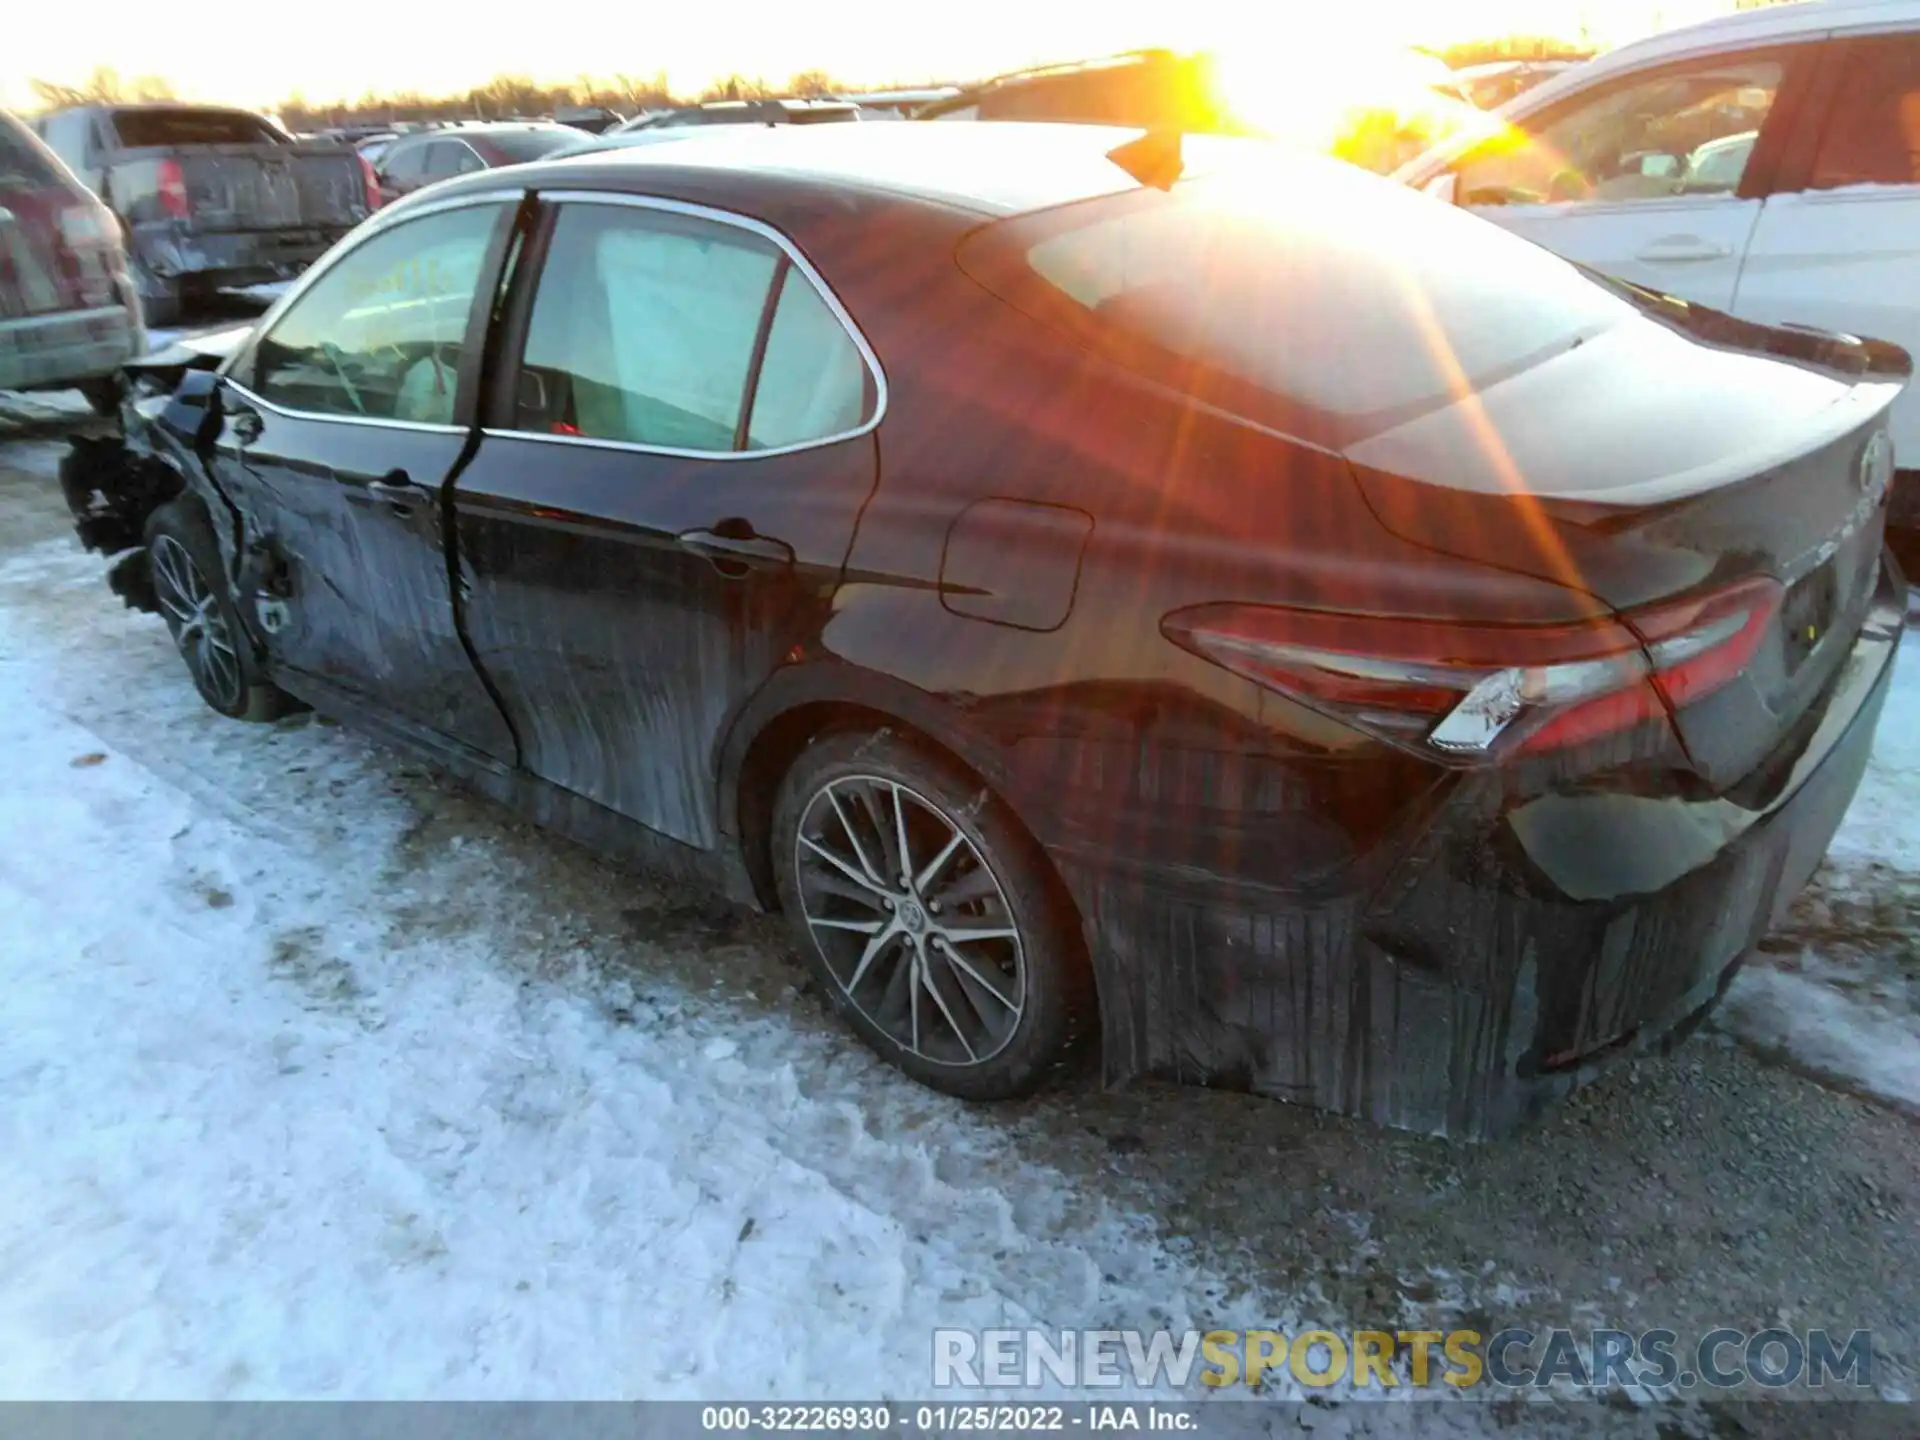
[[[912,1054],[977,1066],[1020,1029],[1027,964],[993,866],[933,801],[881,776],[814,791],[795,833],[806,929],[847,1000]]]

